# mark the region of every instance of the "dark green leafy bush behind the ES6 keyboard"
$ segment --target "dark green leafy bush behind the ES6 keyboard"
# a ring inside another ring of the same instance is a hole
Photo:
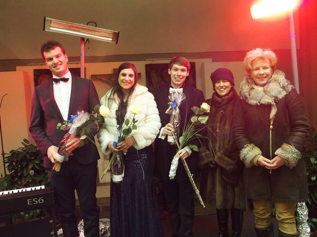
[[[43,167],[44,157],[38,147],[30,144],[27,139],[22,142],[23,147],[10,151],[4,158],[9,174],[0,178],[0,191],[49,186],[48,174]],[[13,214],[13,222],[24,218],[25,221],[46,218],[46,209]]]

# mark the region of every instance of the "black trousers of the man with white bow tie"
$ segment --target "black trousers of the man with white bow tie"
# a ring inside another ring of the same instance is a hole
[[[179,168],[184,168],[180,163]],[[193,237],[195,191],[188,177],[162,182],[172,237]]]

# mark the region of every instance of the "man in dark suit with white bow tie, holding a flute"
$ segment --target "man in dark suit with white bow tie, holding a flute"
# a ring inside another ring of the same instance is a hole
[[[173,237],[193,236],[195,192],[182,162],[178,163],[175,178],[169,179],[168,173],[171,161],[174,156],[186,159],[189,169],[195,178],[198,172],[196,161],[198,153],[192,151],[189,147],[178,151],[176,145],[169,144],[168,140],[172,136],[174,126],[170,123],[170,115],[166,114],[165,111],[169,107],[168,103],[173,102],[170,101],[168,96],[171,93],[179,93],[179,90],[182,90],[182,93],[186,95],[186,99],[179,106],[180,124],[178,129],[179,136],[181,136],[183,129],[190,122],[190,118],[193,115],[191,108],[193,106],[199,107],[205,101],[203,92],[185,81],[189,75],[189,70],[190,64],[186,58],[174,57],[168,65],[168,74],[170,74],[171,80],[153,92],[163,126],[158,138],[155,140],[155,169],[156,175],[162,182]],[[175,92],[175,89],[178,92]],[[198,145],[198,141],[196,143]]]

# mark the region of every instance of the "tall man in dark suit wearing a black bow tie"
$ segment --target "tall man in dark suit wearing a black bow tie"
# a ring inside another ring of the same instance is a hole
[[[67,54],[62,45],[50,40],[41,47],[42,57],[53,73],[53,79],[34,88],[31,104],[29,131],[41,152],[45,155],[44,167],[55,190],[57,207],[61,216],[64,237],[78,237],[75,216],[75,189],[83,213],[85,237],[99,237],[99,211],[96,198],[97,160],[96,145],[83,143],[75,137],[66,145],[72,156],[64,162],[59,172],[52,169],[60,162],[57,147],[66,131],[56,129],[58,122],[75,115],[80,108],[92,112],[99,104],[96,88],[91,80],[72,76],[67,66]]]

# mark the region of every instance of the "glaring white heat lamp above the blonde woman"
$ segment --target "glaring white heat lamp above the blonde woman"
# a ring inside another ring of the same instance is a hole
[[[253,19],[258,19],[295,7],[296,0],[264,0],[250,7]]]

